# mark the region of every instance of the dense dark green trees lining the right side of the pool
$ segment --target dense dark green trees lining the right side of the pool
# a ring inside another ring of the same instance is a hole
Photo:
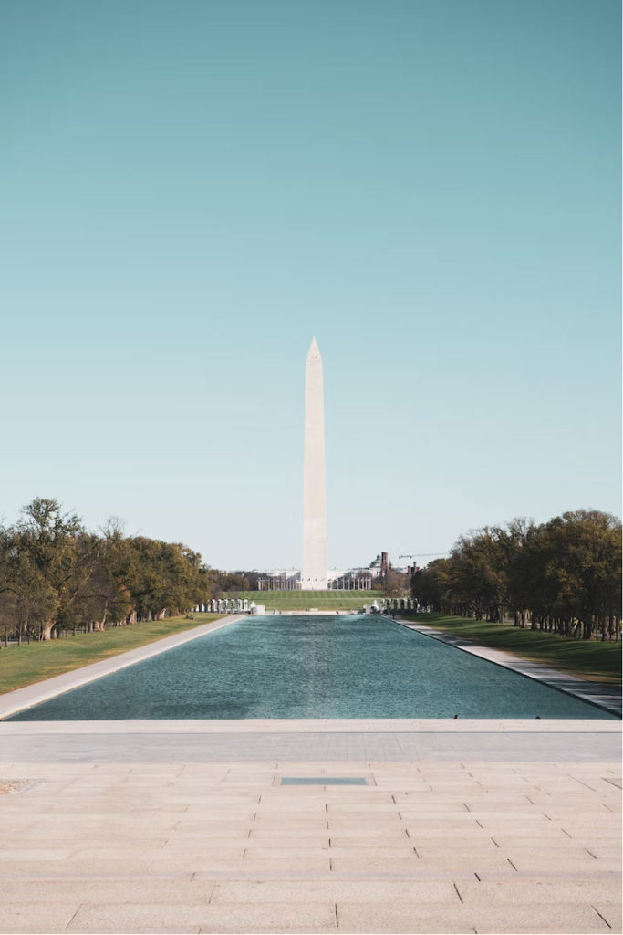
[[[621,635],[621,523],[578,510],[461,536],[448,558],[418,569],[413,597],[437,611],[582,640]]]

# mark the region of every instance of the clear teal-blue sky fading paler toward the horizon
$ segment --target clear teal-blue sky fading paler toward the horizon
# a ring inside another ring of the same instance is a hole
[[[0,515],[220,568],[620,513],[616,0],[0,0]]]

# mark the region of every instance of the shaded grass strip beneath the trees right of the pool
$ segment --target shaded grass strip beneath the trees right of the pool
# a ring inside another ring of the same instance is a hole
[[[435,626],[448,633],[541,662],[593,682],[621,683],[621,644],[570,640],[555,633],[522,630],[519,626],[488,624],[445,613],[406,613],[401,617]]]

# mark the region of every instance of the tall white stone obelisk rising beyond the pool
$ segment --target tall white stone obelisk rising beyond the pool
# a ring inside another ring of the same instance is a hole
[[[322,358],[316,338],[305,368],[305,451],[303,472],[303,568],[301,588],[327,587],[327,510],[324,482]]]

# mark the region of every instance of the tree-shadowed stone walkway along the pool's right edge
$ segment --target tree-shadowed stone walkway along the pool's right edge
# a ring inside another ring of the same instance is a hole
[[[456,636],[454,633],[446,633],[444,630],[438,630],[436,627],[422,624],[414,624],[413,621],[403,620],[400,617],[392,618],[394,623],[406,627],[408,630],[415,630],[422,636],[431,637],[432,640],[443,642],[446,646],[454,646],[464,653],[470,653],[486,662],[492,662],[495,666],[501,666],[503,669],[510,669],[517,672],[517,675],[523,675],[527,679],[535,682],[541,682],[549,688],[562,692],[563,695],[570,695],[572,698],[578,698],[580,701],[586,701],[587,704],[607,711],[609,714],[615,714],[621,717],[621,689],[616,690],[615,685],[609,685],[603,682],[588,682],[588,679],[581,679],[577,675],[569,675],[566,672],[560,672],[558,669],[551,669],[539,662],[532,662],[531,659],[524,659],[521,656],[506,653],[501,649],[493,649],[490,646],[479,646],[471,640],[465,640],[463,637]]]

